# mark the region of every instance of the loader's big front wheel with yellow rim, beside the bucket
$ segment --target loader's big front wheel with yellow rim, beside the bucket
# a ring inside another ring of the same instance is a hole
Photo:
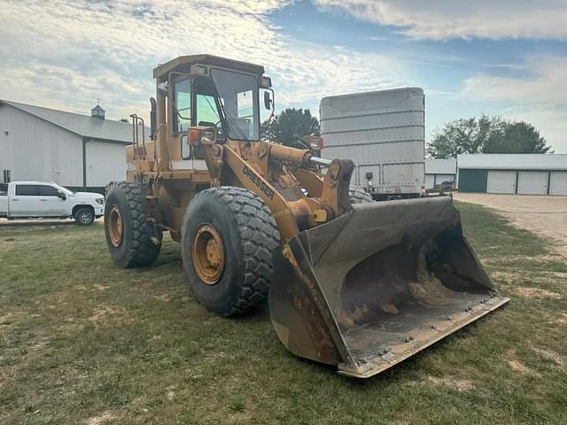
[[[234,187],[198,192],[185,211],[181,237],[190,288],[207,310],[236,315],[268,297],[280,236],[260,197]]]

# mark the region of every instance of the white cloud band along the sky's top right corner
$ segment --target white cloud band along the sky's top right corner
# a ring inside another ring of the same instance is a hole
[[[567,40],[564,0],[314,0],[416,39],[535,38]]]

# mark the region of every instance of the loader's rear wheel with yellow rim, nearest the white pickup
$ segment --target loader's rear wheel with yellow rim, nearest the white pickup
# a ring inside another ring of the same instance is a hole
[[[145,188],[118,182],[105,202],[105,235],[114,262],[122,268],[149,266],[159,254],[162,231],[145,220]]]

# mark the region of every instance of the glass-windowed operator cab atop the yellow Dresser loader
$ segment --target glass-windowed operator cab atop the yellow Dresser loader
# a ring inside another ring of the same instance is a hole
[[[190,168],[206,169],[202,146],[189,143],[192,127],[215,128],[218,143],[260,140],[260,89],[269,90],[264,105],[272,112],[274,106],[271,81],[263,73],[263,66],[210,55],[175,58],[154,69],[158,98],[167,97],[167,143],[174,168],[187,168],[180,161],[191,159]],[[153,140],[160,131],[155,104],[152,102]]]

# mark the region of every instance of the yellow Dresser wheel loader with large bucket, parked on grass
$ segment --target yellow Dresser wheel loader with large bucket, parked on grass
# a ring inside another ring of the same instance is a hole
[[[153,76],[151,142],[134,115],[128,182],[105,203],[120,267],[150,265],[169,232],[207,310],[268,298],[289,351],[360,378],[508,302],[451,197],[370,202],[349,187],[351,160],[261,140],[260,104],[274,108],[262,66],[185,56]]]

